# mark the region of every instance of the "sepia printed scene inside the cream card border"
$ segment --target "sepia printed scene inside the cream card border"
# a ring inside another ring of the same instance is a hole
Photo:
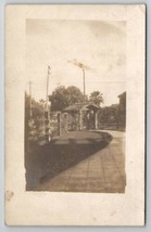
[[[26,191],[125,193],[126,28],[26,20]]]

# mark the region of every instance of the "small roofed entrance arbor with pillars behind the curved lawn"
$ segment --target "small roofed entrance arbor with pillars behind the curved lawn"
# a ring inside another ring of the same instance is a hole
[[[93,103],[76,103],[65,107],[62,113],[68,115],[68,130],[98,129],[98,112]]]

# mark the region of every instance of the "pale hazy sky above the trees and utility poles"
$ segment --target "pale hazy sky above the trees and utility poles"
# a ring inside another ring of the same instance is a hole
[[[104,105],[118,103],[126,91],[126,22],[26,21],[26,91],[46,99],[48,65],[49,94],[59,86],[76,86],[83,91],[83,70],[68,61],[89,68],[86,94],[103,93]]]

